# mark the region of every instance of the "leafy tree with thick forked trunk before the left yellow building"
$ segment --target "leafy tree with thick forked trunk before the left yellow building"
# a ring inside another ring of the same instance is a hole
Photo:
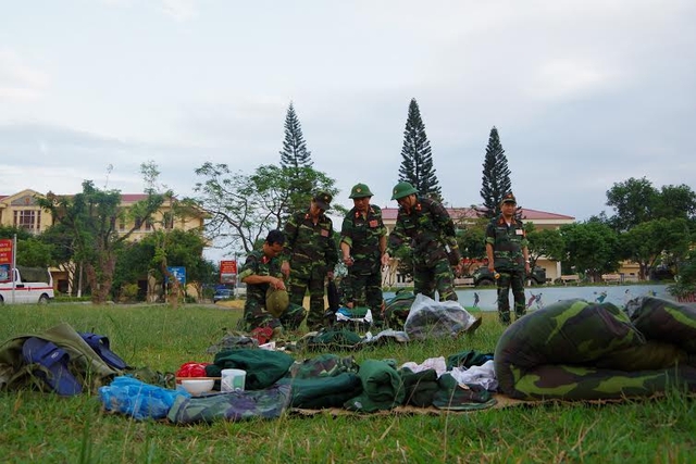
[[[163,197],[148,195],[147,199],[128,209],[132,217],[149,221],[161,206]],[[91,287],[91,301],[102,304],[111,292],[117,248],[135,231],[134,226],[121,234],[116,221],[121,211],[117,190],[100,190],[91,180],[83,183],[83,191],[59,197],[49,192],[39,204],[50,211],[54,224],[62,224],[73,236],[75,259],[85,264]]]

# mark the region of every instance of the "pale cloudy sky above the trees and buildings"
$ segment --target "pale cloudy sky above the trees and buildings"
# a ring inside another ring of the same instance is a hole
[[[351,206],[396,208],[415,98],[450,206],[497,127],[523,208],[577,221],[616,183],[696,189],[693,0],[0,0],[0,195],[191,196],[206,162],[277,164],[290,102]]]

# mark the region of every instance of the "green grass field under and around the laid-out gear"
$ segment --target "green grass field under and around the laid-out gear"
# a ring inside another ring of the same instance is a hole
[[[176,371],[212,361],[206,349],[234,328],[239,310],[184,305],[52,304],[0,308],[0,339],[60,322],[108,335],[135,366]],[[464,350],[492,352],[502,331],[483,314],[474,337],[386,346],[353,354],[422,362]],[[318,353],[298,353],[312,356]],[[694,462],[696,403],[671,391],[620,404],[515,406],[433,415],[288,414],[276,421],[174,426],[104,413],[95,396],[61,399],[33,391],[0,393],[3,462]]]

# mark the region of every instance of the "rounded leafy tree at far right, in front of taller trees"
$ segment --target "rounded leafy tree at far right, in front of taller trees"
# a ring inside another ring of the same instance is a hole
[[[664,254],[674,261],[685,256],[691,242],[688,221],[685,218],[652,220],[620,235],[621,256],[639,265],[641,279],[647,278]]]

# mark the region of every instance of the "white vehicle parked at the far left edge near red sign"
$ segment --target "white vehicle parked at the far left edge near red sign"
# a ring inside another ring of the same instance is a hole
[[[0,283],[0,304],[46,304],[53,299],[53,277],[42,267],[17,266],[10,273],[12,280]]]

